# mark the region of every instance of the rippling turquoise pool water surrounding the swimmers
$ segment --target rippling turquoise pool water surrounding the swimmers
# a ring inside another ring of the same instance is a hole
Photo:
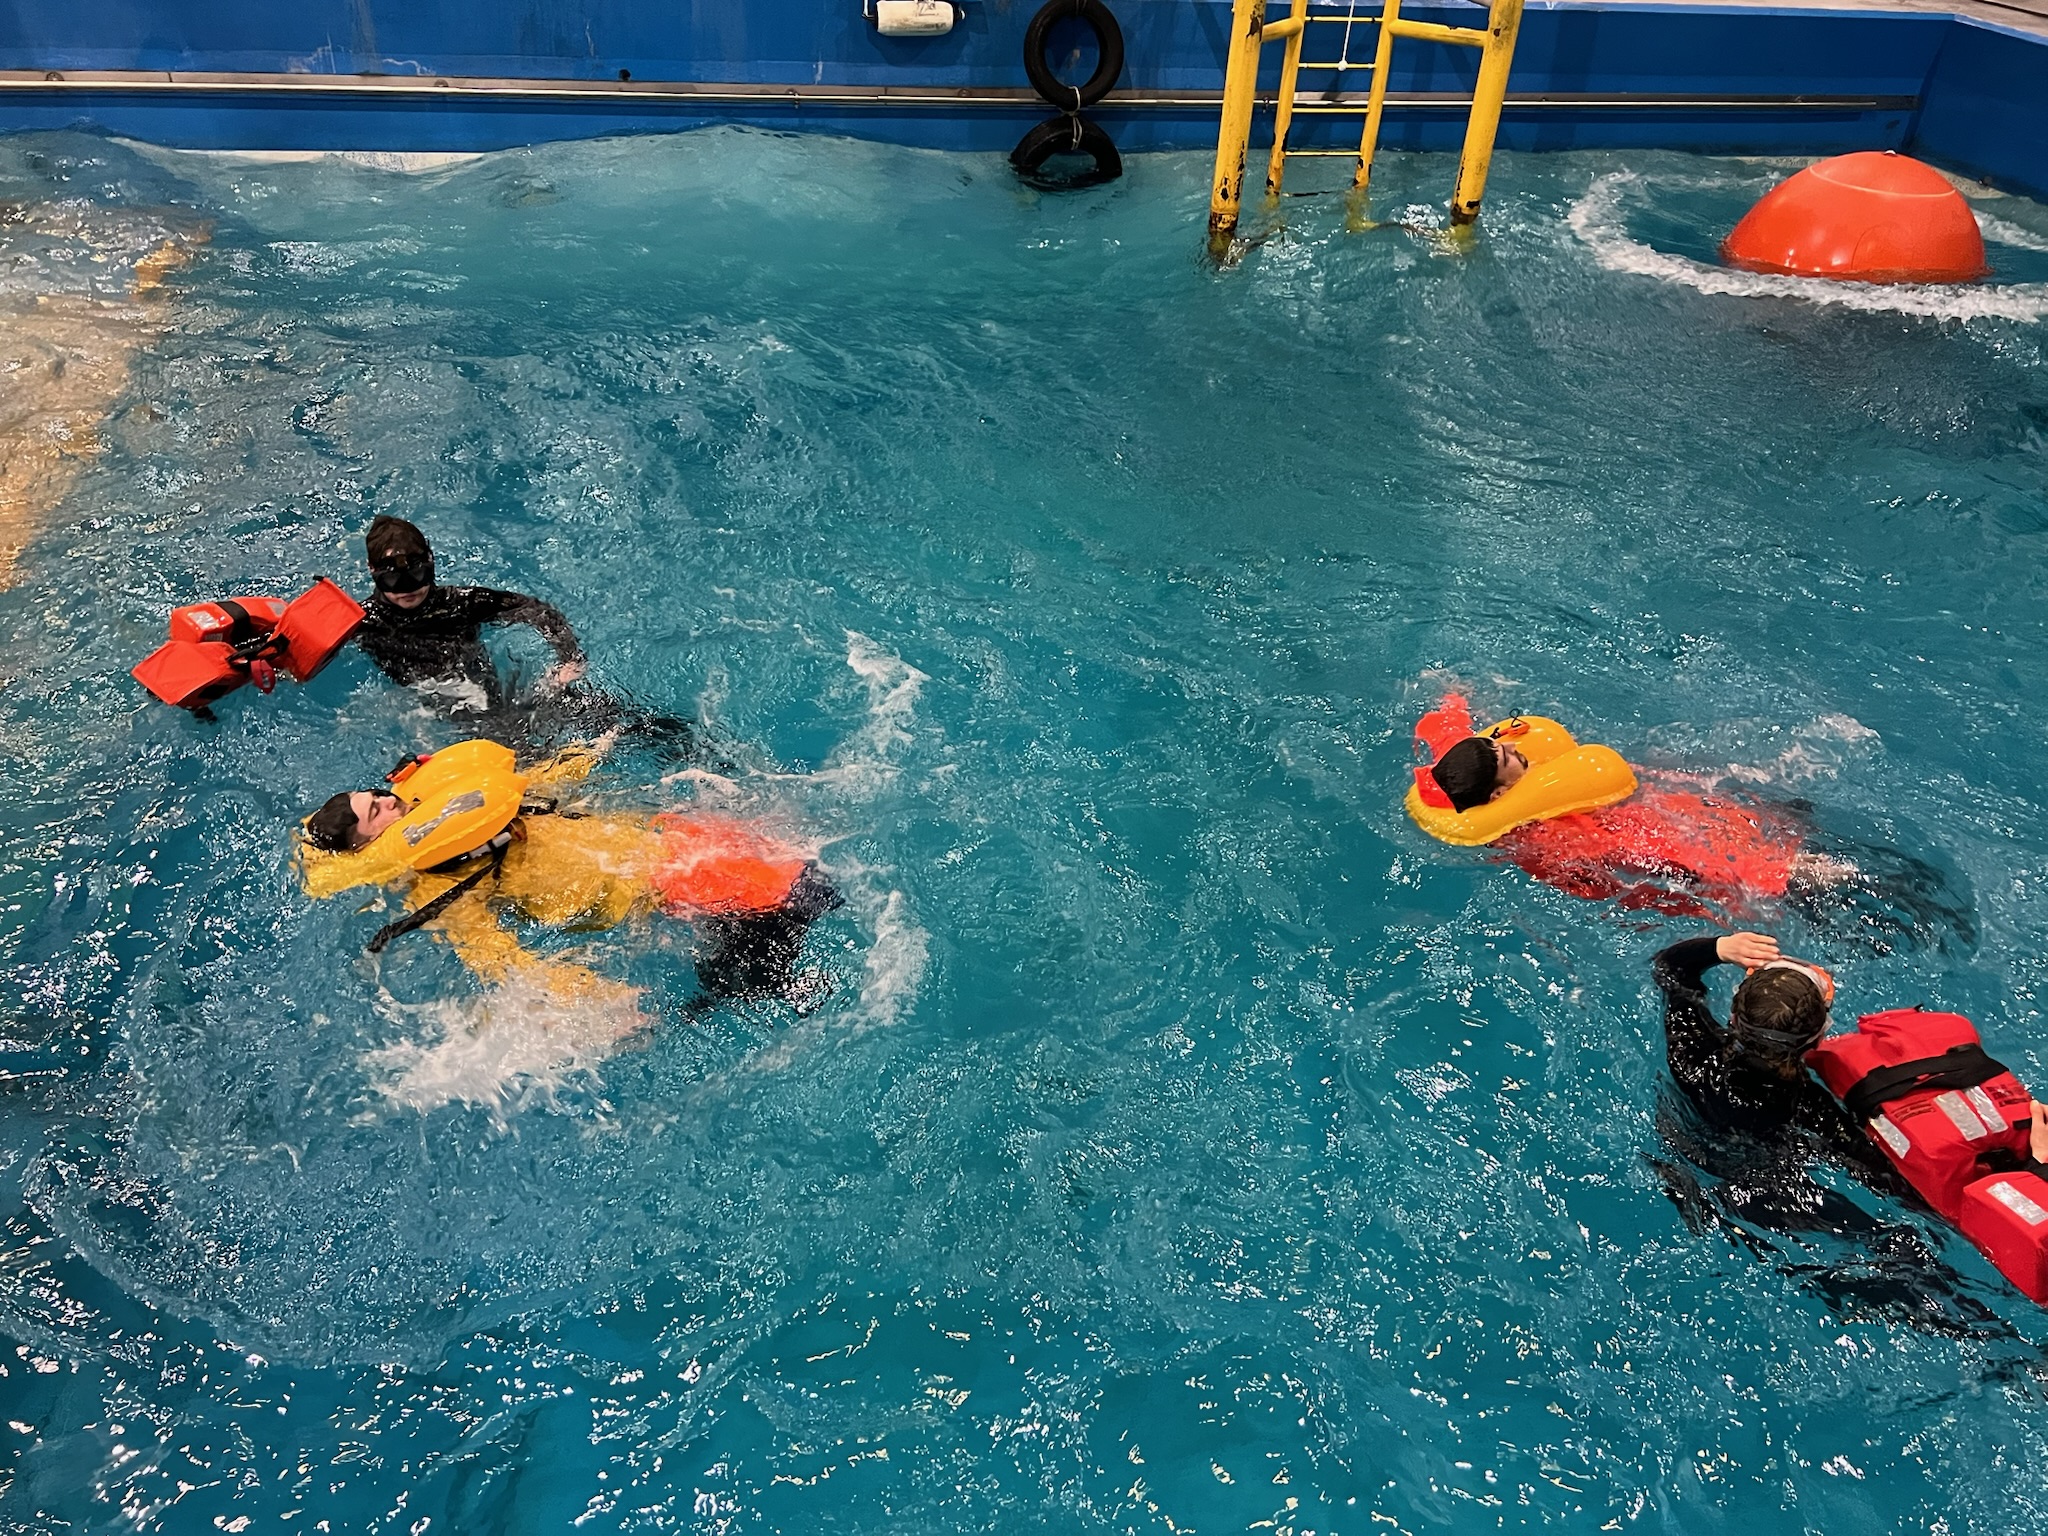
[[[1823,1176],[1929,1300],[1667,1200],[1696,924],[1397,803],[1450,682],[1808,803],[1948,915],[1753,920],[2048,1087],[2048,211],[1978,203],[1966,295],[1706,266],[1784,170],[1509,158],[1473,252],[1294,199],[1214,270],[1198,156],[0,143],[10,303],[211,223],[0,594],[0,1524],[2048,1511],[2048,1315],[1958,1239]],[[635,928],[573,946],[647,989],[612,1051],[297,891],[293,819],[451,727],[354,653],[217,725],[125,672],[176,600],[358,584],[379,510],[717,727],[731,776],[598,795],[819,848],[819,1006],[692,1026]]]

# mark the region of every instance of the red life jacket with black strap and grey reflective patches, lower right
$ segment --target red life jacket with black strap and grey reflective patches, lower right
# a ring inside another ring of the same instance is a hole
[[[2048,1303],[2048,1182],[2023,1171],[2032,1100],[1962,1014],[1894,1008],[1806,1053],[1907,1184]]]

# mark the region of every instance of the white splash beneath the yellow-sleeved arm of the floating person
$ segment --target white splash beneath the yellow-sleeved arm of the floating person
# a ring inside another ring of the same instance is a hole
[[[598,1063],[649,1026],[635,989],[571,997],[520,975],[406,1012],[428,1024],[430,1038],[371,1051],[365,1065],[377,1092],[412,1110],[477,1104],[500,1118],[590,1085]]]

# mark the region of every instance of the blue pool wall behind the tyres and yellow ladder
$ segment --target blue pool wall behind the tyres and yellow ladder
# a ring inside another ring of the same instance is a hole
[[[1022,66],[1036,0],[967,0],[963,10],[946,37],[885,39],[858,0],[12,0],[0,8],[0,131],[86,127],[182,147],[498,150],[717,121],[1008,150],[1047,115]],[[1126,70],[1094,115],[1124,150],[1210,147],[1206,96],[1223,84],[1227,0],[1114,0],[1114,10]],[[1475,25],[1481,8],[1409,14]],[[1317,43],[1333,45],[1339,31],[1315,29]],[[1270,76],[1278,49],[1268,55]],[[1475,66],[1473,49],[1403,43],[1391,90],[1460,92]],[[207,74],[238,78],[190,78]],[[879,86],[928,100],[834,94]],[[971,94],[932,98],[946,90]],[[2048,41],[1968,18],[1538,2],[1509,92],[1501,141],[1511,150],[1909,150],[2048,195]],[[1296,119],[1303,145],[1354,133],[1356,119]],[[1448,150],[1460,133],[1462,109],[1411,100],[1393,111],[1386,143]]]

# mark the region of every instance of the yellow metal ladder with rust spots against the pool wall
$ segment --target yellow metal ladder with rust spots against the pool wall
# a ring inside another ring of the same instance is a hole
[[[1288,14],[1268,20],[1272,4],[1286,4]],[[1341,25],[1343,41],[1335,59],[1303,59],[1300,45],[1311,27]],[[1372,61],[1350,57],[1352,29],[1376,27],[1378,43]],[[1442,27],[1430,20],[1401,16],[1401,0],[1382,0],[1378,14],[1358,14],[1352,0],[1346,12],[1309,14],[1309,0],[1235,0],[1231,10],[1231,55],[1223,78],[1223,121],[1217,125],[1217,174],[1208,195],[1210,250],[1229,250],[1237,231],[1237,209],[1245,193],[1245,160],[1251,152],[1251,113],[1257,104],[1260,51],[1266,43],[1282,43],[1280,88],[1274,98],[1274,147],[1266,162],[1266,195],[1280,197],[1280,178],[1290,156],[1350,156],[1350,150],[1288,150],[1286,135],[1294,113],[1362,113],[1364,133],[1358,139],[1358,170],[1352,176],[1356,197],[1372,180],[1372,154],[1380,141],[1380,119],[1386,113],[1386,76],[1395,39],[1411,37],[1425,43],[1458,43],[1479,49],[1479,82],[1473,86],[1473,109],[1464,121],[1464,152],[1458,158],[1458,184],[1450,195],[1450,221],[1466,225],[1479,217],[1479,199],[1487,190],[1487,166],[1493,162],[1493,135],[1501,125],[1501,102],[1507,96],[1507,68],[1516,57],[1516,33],[1522,29],[1522,0],[1491,0],[1485,29]],[[1335,72],[1335,86],[1319,98],[1296,100],[1296,80],[1303,70]],[[1372,88],[1366,102],[1343,100],[1343,76],[1368,70]]]

